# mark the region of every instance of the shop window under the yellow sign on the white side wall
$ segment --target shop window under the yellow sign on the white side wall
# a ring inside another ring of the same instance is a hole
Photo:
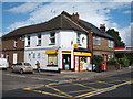
[[[49,54],[48,55],[48,65],[58,65],[58,55],[57,54]]]

